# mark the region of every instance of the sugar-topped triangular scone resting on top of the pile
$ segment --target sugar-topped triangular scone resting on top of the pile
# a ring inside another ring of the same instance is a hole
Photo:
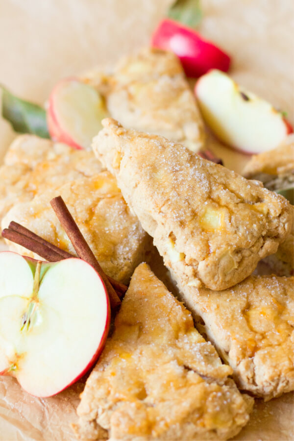
[[[289,234],[289,202],[262,184],[163,137],[113,119],[103,125],[93,141],[96,156],[181,282],[229,288]]]

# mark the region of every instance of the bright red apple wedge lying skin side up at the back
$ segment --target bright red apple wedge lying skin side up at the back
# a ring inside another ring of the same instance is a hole
[[[227,53],[204,40],[193,29],[170,19],[160,22],[151,37],[151,46],[174,52],[187,76],[198,77],[210,69],[227,72],[230,67]]]

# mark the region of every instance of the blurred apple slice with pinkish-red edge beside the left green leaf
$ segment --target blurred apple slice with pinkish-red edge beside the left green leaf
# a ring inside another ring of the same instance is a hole
[[[47,123],[51,138],[77,149],[91,149],[92,138],[107,116],[98,91],[75,78],[60,81],[49,97]]]

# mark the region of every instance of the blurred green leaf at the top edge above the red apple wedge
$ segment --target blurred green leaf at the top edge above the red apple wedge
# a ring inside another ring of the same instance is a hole
[[[202,19],[200,0],[176,0],[168,11],[168,17],[189,27],[197,27]]]

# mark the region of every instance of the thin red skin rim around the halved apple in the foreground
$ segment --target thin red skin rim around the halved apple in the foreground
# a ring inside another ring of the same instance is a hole
[[[13,254],[17,254],[17,253],[15,253],[14,251],[1,251],[1,252],[5,252],[5,253],[7,253],[7,252],[11,252],[11,253],[13,253]],[[31,262],[31,263],[33,263],[33,264],[37,264],[37,262],[38,262],[38,260],[36,260],[36,259],[33,259],[32,257],[28,257],[28,256],[22,256],[22,257],[24,257],[24,259],[26,260],[26,261],[29,261],[29,262]],[[74,259],[74,258],[73,258]],[[42,262],[44,262],[44,263],[46,263],[46,264],[48,264],[48,265],[51,265],[49,262],[46,262],[46,261],[42,261]],[[85,262],[87,265],[89,265],[87,262]],[[56,264],[56,262],[54,262],[54,264]],[[44,396],[44,395],[42,395],[42,398],[47,398],[47,397],[49,397],[49,396],[52,396],[52,395],[55,395],[55,394],[57,394],[57,393],[59,393],[59,392],[62,392],[62,391],[64,391],[65,389],[67,389],[67,388],[69,388],[70,386],[72,386],[76,381],[78,381],[90,368],[92,368],[92,366],[96,363],[96,361],[98,360],[98,358],[99,358],[99,355],[101,354],[101,352],[103,351],[103,349],[104,349],[104,346],[105,346],[105,343],[106,343],[106,340],[107,340],[107,336],[108,336],[108,333],[109,333],[109,327],[110,327],[110,319],[111,319],[111,308],[110,308],[110,301],[109,301],[109,296],[108,296],[108,294],[107,294],[107,289],[106,289],[106,286],[105,286],[105,284],[104,284],[104,282],[103,282],[103,280],[101,279],[101,277],[100,277],[100,275],[98,274],[98,276],[99,276],[99,278],[100,278],[100,281],[101,281],[101,283],[102,283],[102,285],[103,285],[103,288],[104,288],[104,291],[105,291],[105,293],[106,293],[106,302],[107,302],[107,317],[106,317],[106,326],[105,326],[105,329],[104,329],[104,332],[103,332],[103,335],[102,335],[102,337],[101,337],[101,341],[100,341],[100,344],[99,344],[99,346],[98,346],[98,348],[97,348],[97,351],[95,352],[95,354],[93,355],[93,357],[91,358],[91,360],[89,361],[89,363],[87,364],[87,366],[73,379],[73,381],[71,381],[71,383],[69,383],[68,385],[66,385],[64,388],[62,388],[62,389],[60,389],[60,391],[56,391],[56,392],[54,392],[53,394],[51,394],[51,395],[47,395],[47,396]],[[12,371],[12,372],[6,372],[5,370],[4,371],[2,371],[2,372],[0,372],[0,375],[3,375],[3,376],[5,376],[5,375],[10,375],[10,376],[13,376],[13,377],[15,377],[15,378],[17,378],[17,375],[15,375],[15,373]],[[22,385],[21,385],[22,386]],[[23,386],[22,386],[22,388],[23,388]],[[24,389],[24,388],[23,388]],[[24,389],[24,391],[25,391],[25,389]],[[27,393],[29,393],[28,391],[25,391],[25,392],[27,392]],[[38,396],[38,395],[33,395],[33,396]]]

